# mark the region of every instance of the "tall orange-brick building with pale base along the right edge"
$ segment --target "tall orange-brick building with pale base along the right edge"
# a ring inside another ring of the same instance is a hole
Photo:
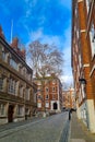
[[[78,117],[95,132],[95,0],[72,0],[71,51]]]

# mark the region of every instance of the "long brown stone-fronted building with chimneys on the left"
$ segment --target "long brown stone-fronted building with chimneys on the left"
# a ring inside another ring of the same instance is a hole
[[[25,50],[14,38],[9,45],[0,27],[0,125],[32,117],[36,109],[33,70],[25,62]]]

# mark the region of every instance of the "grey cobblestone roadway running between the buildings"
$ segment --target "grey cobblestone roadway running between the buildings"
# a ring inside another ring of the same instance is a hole
[[[59,142],[68,113],[31,121],[0,132],[0,142]]]

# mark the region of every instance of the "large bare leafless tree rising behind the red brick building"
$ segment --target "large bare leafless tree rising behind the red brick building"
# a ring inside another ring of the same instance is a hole
[[[55,45],[40,44],[38,40],[29,45],[31,66],[36,78],[60,75],[62,72],[63,54]]]

